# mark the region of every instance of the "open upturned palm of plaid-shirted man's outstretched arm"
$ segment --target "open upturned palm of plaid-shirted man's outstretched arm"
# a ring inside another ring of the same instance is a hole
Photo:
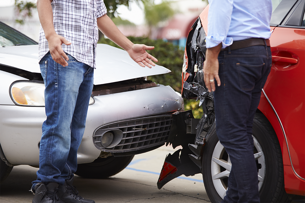
[[[152,61],[158,62],[158,60],[145,50],[152,50],[154,48],[155,47],[146,46],[145,44],[133,44],[131,48],[127,50],[127,53],[140,66],[145,67],[146,65],[151,68],[151,65],[156,65]]]

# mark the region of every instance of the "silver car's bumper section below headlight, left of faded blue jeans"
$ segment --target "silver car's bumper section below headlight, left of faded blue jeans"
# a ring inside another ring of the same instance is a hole
[[[0,105],[0,143],[11,164],[39,165],[38,143],[46,119],[44,107]]]

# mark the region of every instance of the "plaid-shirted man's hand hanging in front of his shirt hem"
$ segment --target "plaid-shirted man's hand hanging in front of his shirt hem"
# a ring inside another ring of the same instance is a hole
[[[52,34],[51,36],[48,36],[47,40],[52,59],[63,67],[67,66],[67,61],[69,61],[69,58],[61,48],[61,45],[70,45],[71,42],[67,41],[66,38],[58,34]]]

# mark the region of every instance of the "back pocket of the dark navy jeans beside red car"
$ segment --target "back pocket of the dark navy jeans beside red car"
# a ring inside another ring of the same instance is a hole
[[[237,63],[236,68],[239,77],[239,85],[241,90],[253,90],[256,81],[262,76],[262,68],[265,63],[259,65]]]

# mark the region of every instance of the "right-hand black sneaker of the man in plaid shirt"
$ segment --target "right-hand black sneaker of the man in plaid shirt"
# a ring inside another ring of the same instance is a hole
[[[66,180],[64,185],[60,185],[58,187],[58,197],[63,202],[77,202],[77,203],[95,203],[95,201],[90,199],[84,199],[81,196],[78,195],[78,191],[76,187],[73,185],[74,177],[72,177],[70,180]]]

